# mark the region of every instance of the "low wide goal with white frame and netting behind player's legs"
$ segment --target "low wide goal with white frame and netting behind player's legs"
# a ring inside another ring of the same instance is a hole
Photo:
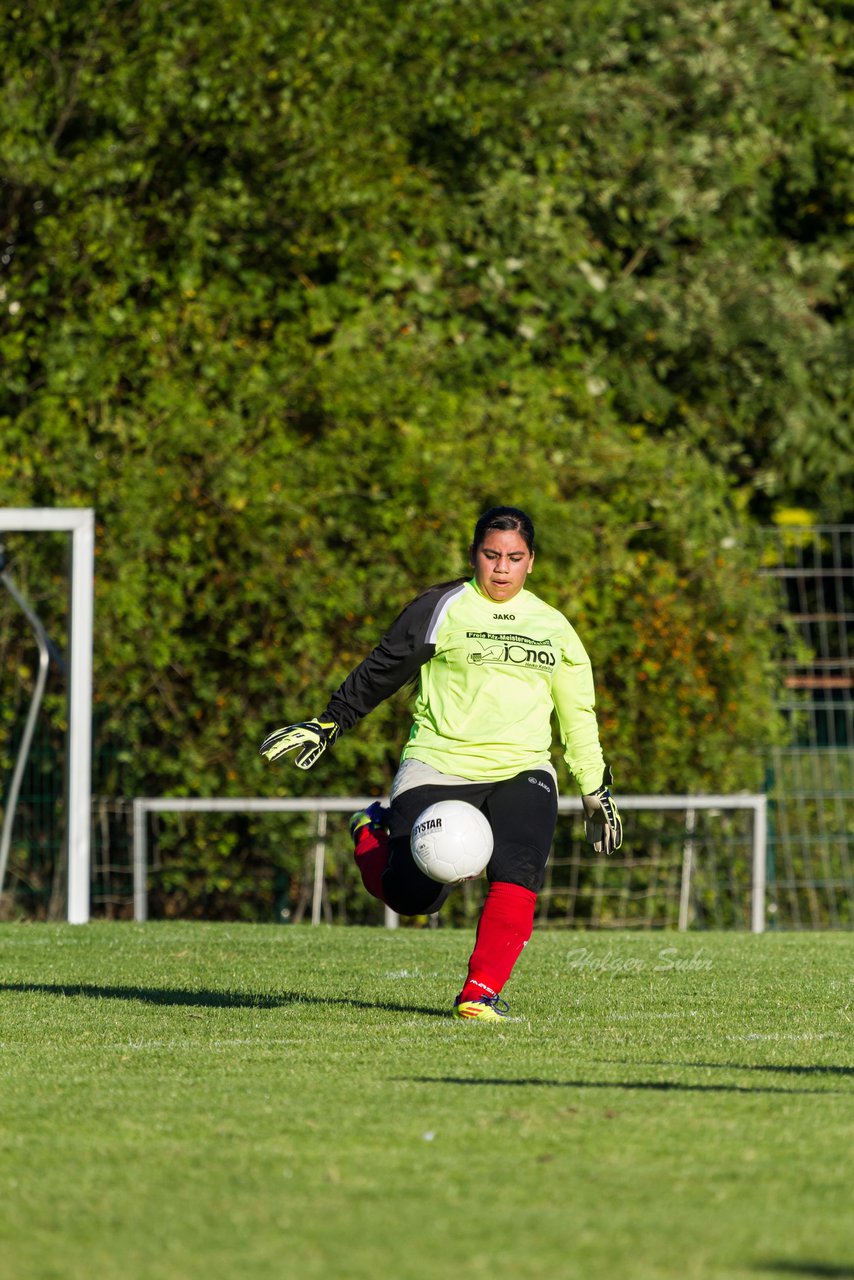
[[[277,855],[273,867],[266,858],[266,877],[275,879],[282,918],[380,923],[384,916],[393,925],[397,919],[383,913],[382,904],[365,893],[353,867],[347,819],[367,803],[365,796],[137,799],[133,801],[134,915],[140,920],[147,918],[150,895],[163,905],[164,890],[181,890],[188,883],[189,850],[204,852],[211,842],[219,842],[218,847],[225,851],[223,841],[228,840],[229,822],[239,817],[243,829],[239,868],[247,888],[257,883],[250,870],[250,846],[255,841],[260,849],[259,842],[266,842],[261,828],[268,822],[277,823]],[[620,809],[624,846],[611,858],[602,858],[584,840],[580,801],[561,800],[552,858],[538,902],[540,925],[754,932],[764,928],[764,796],[621,796]],[[202,856],[196,865],[210,864]],[[484,888],[483,878],[460,886],[443,908],[442,922],[472,923]],[[210,901],[216,914],[215,878]]]

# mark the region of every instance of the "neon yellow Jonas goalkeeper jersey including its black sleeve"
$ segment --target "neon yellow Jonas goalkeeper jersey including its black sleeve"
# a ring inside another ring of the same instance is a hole
[[[515,777],[551,763],[554,712],[581,792],[602,786],[590,659],[563,614],[531,591],[506,603],[474,581],[426,591],[351,672],[326,713],[346,731],[416,672],[402,759],[478,782]]]

